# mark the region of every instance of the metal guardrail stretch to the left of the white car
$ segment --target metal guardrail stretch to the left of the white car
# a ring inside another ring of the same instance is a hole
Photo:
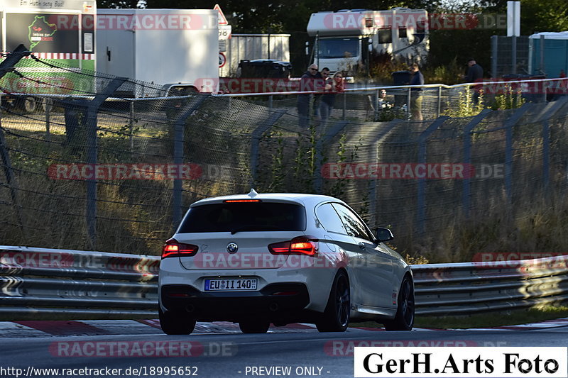
[[[160,257],[0,246],[0,318],[157,314]]]

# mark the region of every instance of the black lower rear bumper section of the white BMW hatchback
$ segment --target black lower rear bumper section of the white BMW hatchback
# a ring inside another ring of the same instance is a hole
[[[310,304],[305,284],[268,284],[258,291],[204,292],[190,285],[163,285],[160,305],[168,311],[184,311],[198,321],[240,321],[261,318],[287,323],[308,321]]]

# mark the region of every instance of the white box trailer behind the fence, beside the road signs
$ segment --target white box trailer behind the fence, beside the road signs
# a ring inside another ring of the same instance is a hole
[[[99,9],[97,70],[163,85],[136,97],[216,91],[219,26],[214,9]]]

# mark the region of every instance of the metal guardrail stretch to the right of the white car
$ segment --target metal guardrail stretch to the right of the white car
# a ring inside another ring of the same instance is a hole
[[[413,265],[417,315],[482,313],[568,299],[568,256]]]

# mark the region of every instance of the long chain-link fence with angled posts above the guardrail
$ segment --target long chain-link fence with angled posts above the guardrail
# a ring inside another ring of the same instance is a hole
[[[297,94],[144,98],[160,87],[23,61],[0,78],[7,245],[156,254],[193,201],[254,187],[337,196],[411,250],[567,183],[564,96],[482,111],[463,87],[359,89],[325,121],[306,96],[302,123]]]

